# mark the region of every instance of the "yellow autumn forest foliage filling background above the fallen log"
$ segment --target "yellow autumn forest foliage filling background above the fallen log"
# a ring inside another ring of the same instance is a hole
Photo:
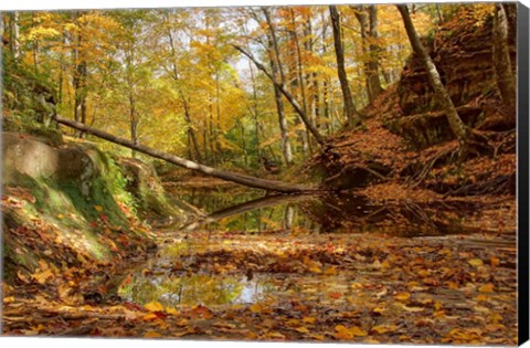
[[[416,31],[435,32],[456,9],[414,6]],[[394,6],[336,12],[360,112],[399,80],[411,45]],[[22,106],[25,74],[57,114],[134,143],[211,166],[300,162],[317,139],[240,48],[282,83],[318,134],[349,123],[325,6],[10,12],[2,24],[4,113],[20,122],[35,116]]]

